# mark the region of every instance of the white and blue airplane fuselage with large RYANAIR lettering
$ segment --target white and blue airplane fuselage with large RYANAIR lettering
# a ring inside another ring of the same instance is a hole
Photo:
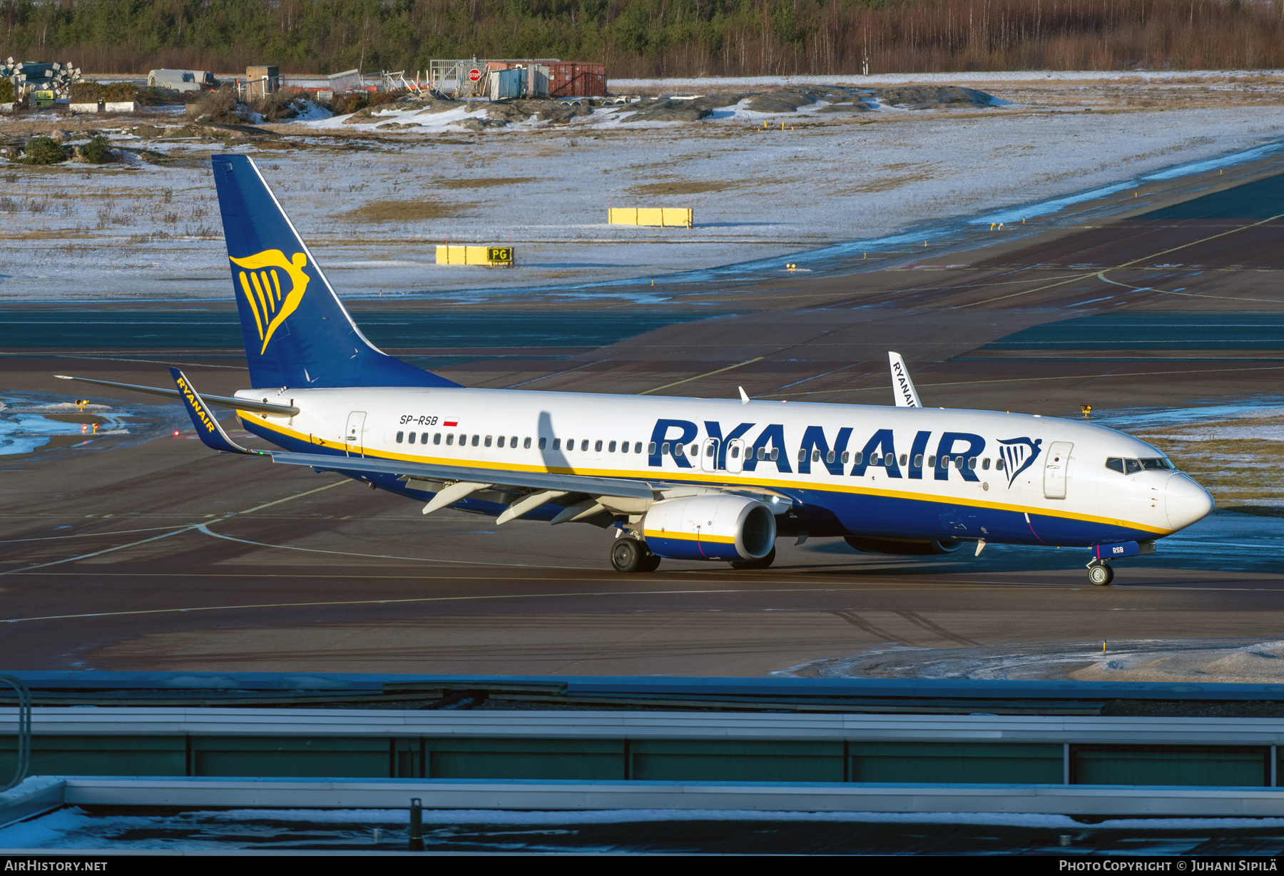
[[[788,505],[781,534],[1091,546],[1161,538],[1212,510],[1153,446],[1037,415],[466,388],[236,396],[300,408],[239,414],[284,450],[327,457],[324,468],[366,456],[763,491]],[[353,477],[430,497],[390,475]],[[512,498],[480,492],[456,507],[499,514]]]

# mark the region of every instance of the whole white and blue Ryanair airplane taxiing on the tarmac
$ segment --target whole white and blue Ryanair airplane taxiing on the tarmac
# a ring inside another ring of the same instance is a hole
[[[213,172],[254,388],[203,397],[177,369],[177,389],[87,381],[180,397],[214,450],[338,471],[424,514],[610,529],[619,572],[765,569],[778,537],[826,537],[881,554],[1088,547],[1089,579],[1108,584],[1109,560],[1212,510],[1113,429],[922,407],[896,353],[895,407],[461,387],[362,335],[249,158],[214,155]],[[281,450],[238,446],[211,405]]]

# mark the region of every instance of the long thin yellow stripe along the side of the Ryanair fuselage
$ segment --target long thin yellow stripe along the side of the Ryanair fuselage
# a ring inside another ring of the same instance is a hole
[[[288,426],[279,423],[270,423],[268,420],[256,417],[249,411],[236,411],[238,416],[243,421],[253,424],[267,429],[268,432],[277,432],[280,434],[288,435],[290,438],[311,443],[313,447],[333,447],[335,450],[344,450],[347,446],[339,442],[329,442],[324,438],[317,438],[316,435],[308,435],[306,433],[295,432]],[[732,489],[808,489],[818,493],[844,493],[850,496],[877,496],[881,498],[905,498],[915,502],[940,502],[942,505],[955,505],[962,507],[977,507],[987,509],[993,511],[1014,511],[1017,514],[1036,514],[1044,518],[1057,518],[1061,520],[1080,520],[1084,523],[1100,523],[1111,527],[1124,527],[1127,529],[1140,529],[1143,532],[1154,533],[1157,536],[1167,536],[1175,529],[1163,529],[1158,527],[1150,527],[1144,523],[1134,523],[1131,520],[1124,520],[1121,518],[1103,518],[1091,514],[1076,514],[1071,511],[1059,511],[1055,509],[1044,509],[1034,505],[1013,505],[1009,502],[993,502],[980,498],[966,498],[958,496],[936,496],[932,493],[915,493],[908,489],[885,489],[878,487],[859,487],[849,484],[805,484],[796,480],[781,480],[781,479],[765,479],[756,477],[755,474],[741,475],[740,479],[734,479],[729,471],[719,471],[719,477],[711,477],[707,473],[697,473],[692,470],[691,474],[682,471],[620,471],[618,469],[575,469],[575,468],[541,468],[537,465],[517,465],[512,462],[489,462],[489,461],[474,461],[474,460],[460,460],[440,456],[408,456],[406,453],[389,453],[386,451],[372,451],[369,447],[365,448],[365,456],[375,460],[389,460],[401,462],[424,462],[428,465],[475,465],[488,469],[496,469],[498,471],[528,471],[535,474],[570,474],[582,475],[592,478],[619,478],[624,480],[664,480],[666,483],[691,483],[702,487],[727,487]],[[326,469],[342,469],[342,459],[333,456],[318,457],[317,465]],[[768,462],[770,460],[767,460]],[[924,482],[933,483],[933,482]]]

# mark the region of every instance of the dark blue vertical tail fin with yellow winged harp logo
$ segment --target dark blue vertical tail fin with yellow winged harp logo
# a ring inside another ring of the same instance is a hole
[[[366,340],[254,162],[212,161],[256,388],[460,385]]]

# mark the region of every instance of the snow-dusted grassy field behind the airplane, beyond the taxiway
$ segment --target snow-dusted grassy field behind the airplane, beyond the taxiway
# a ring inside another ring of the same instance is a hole
[[[1279,90],[1228,91],[1219,77],[1176,77],[1171,87],[1125,77],[1025,82],[989,89],[1013,105],[823,118],[815,105],[770,116],[737,107],[701,122],[628,123],[621,107],[569,125],[480,132],[455,123],[464,109],[398,110],[362,125],[275,126],[279,140],[231,148],[254,157],[342,294],[476,302],[493,294],[487,289],[544,286],[597,298],[624,293],[566,289],[639,277],[656,286],[638,297],[663,301],[664,279],[679,271],[776,258],[783,267],[787,256],[847,241],[890,256],[907,248],[898,234],[931,236],[924,223],[1016,215],[1278,144]],[[389,122],[430,127],[379,127]],[[32,125],[3,118],[0,137]],[[121,130],[113,139],[152,155],[125,166],[0,166],[12,241],[0,256],[0,301],[230,295],[208,170],[225,146]],[[607,206],[688,204],[693,229],[606,222]],[[511,243],[517,267],[439,267],[435,245],[446,241]]]

